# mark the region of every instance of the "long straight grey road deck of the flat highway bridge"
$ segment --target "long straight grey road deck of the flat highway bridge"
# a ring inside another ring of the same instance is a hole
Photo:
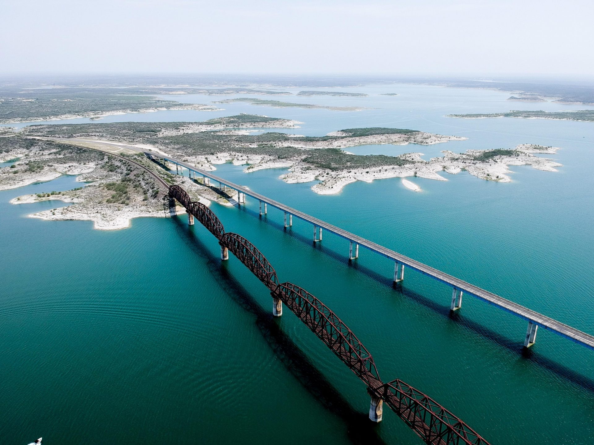
[[[79,140],[81,142],[84,141],[84,139]],[[106,142],[102,142],[102,144],[115,145],[116,147],[129,148],[138,151],[137,147],[131,147],[126,144],[115,144]],[[209,171],[197,169],[196,167],[191,166],[190,164],[185,163],[184,161],[180,161],[157,152],[146,151],[146,154],[152,155],[154,157],[163,158],[171,163],[178,164],[179,166],[184,167],[184,169],[194,171],[195,173],[200,174],[201,176],[206,176],[211,180],[226,185],[232,189],[237,190],[238,192],[245,193],[245,195],[251,196],[252,198],[257,199],[258,201],[265,202],[267,205],[273,206],[274,208],[277,208],[280,211],[292,214],[293,216],[303,221],[307,221],[310,224],[315,224],[318,227],[323,228],[324,230],[336,234],[337,236],[343,237],[344,239],[349,241],[353,241],[354,243],[359,244],[359,246],[363,246],[366,249],[371,250],[372,252],[377,252],[380,255],[385,256],[386,258],[390,258],[394,261],[403,263],[409,268],[421,272],[421,274],[431,276],[431,278],[437,279],[438,281],[441,281],[451,287],[460,289],[463,292],[472,295],[473,297],[484,300],[487,303],[492,304],[493,306],[497,306],[500,309],[503,309],[511,314],[514,314],[517,317],[520,317],[521,319],[535,323],[541,328],[544,328],[551,332],[555,332],[558,335],[568,338],[571,341],[579,343],[587,348],[594,349],[594,336],[582,332],[578,329],[572,328],[571,326],[565,325],[564,323],[558,322],[557,320],[554,320],[551,317],[547,317],[541,313],[528,309],[527,307],[524,307],[520,304],[514,303],[513,301],[506,300],[505,298],[500,297],[497,294],[481,289],[475,285],[463,281],[462,279],[456,278],[455,276],[445,274],[444,272],[441,272],[438,269],[432,268],[431,266],[425,265],[424,263],[413,260],[412,258],[408,258],[407,256],[401,255],[400,253],[395,252],[394,250],[388,249],[387,247],[381,246],[380,244],[374,243],[373,241],[369,241],[358,235],[350,233],[349,231],[343,230],[340,227],[336,227],[336,225],[328,224],[328,222],[326,221],[312,217],[311,215],[308,215],[297,209],[282,204],[282,202],[274,201],[274,199],[270,199],[267,196],[260,195],[260,193],[256,193],[246,187],[242,187],[235,183],[229,182],[228,180],[216,176],[210,173]]]

